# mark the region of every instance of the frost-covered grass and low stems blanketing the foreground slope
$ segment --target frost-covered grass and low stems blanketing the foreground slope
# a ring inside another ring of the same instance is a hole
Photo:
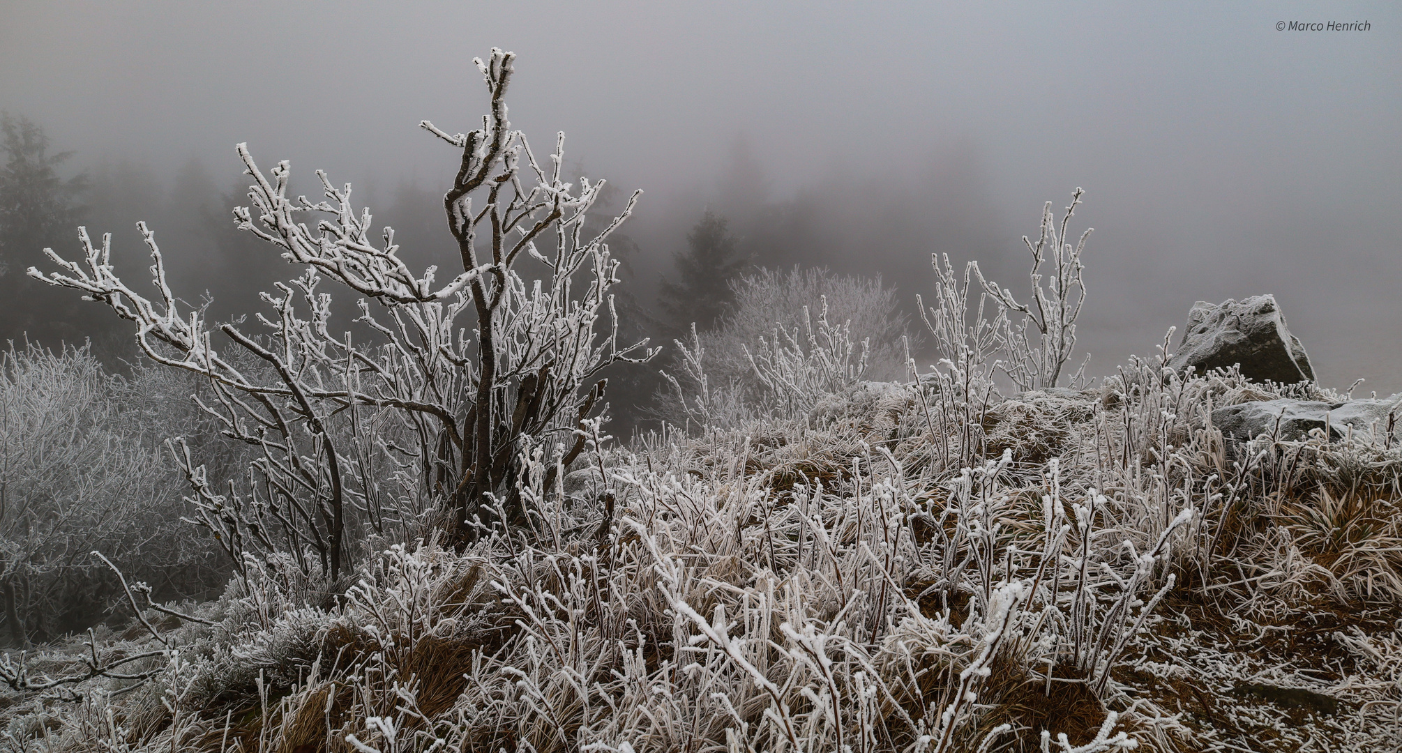
[[[144,635],[28,658],[36,680],[86,672],[84,652],[101,665],[157,649],[126,669],[160,673],[59,686],[49,700],[14,693],[6,740],[55,752],[1402,742],[1398,449],[1322,436],[1228,446],[1210,408],[1280,390],[1134,365],[1099,390],[981,411],[973,432],[994,457],[965,468],[931,393],[865,383],[787,416],[596,449],[555,477],[568,494],[541,489],[534,463],[529,531],[463,552],[391,548],[339,602],[308,603],[306,583],[251,561],[247,585],[196,607],[212,624],[149,613]],[[4,672],[20,669],[11,658]]]

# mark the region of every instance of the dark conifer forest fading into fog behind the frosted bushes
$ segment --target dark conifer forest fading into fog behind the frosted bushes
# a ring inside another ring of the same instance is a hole
[[[123,279],[140,285],[150,252],[136,222],[154,231],[177,294],[191,306],[207,304],[206,317],[227,321],[266,311],[261,292],[276,280],[301,273],[275,248],[237,229],[233,208],[247,206],[248,177],[188,160],[172,177],[149,165],[57,150],[42,125],[6,115],[0,144],[0,341],[60,344],[93,342],[104,363],[132,358],[130,330],[105,306],[79,300],[72,290],[52,289],[25,275],[29,266],[50,269],[42,250],[72,252],[77,227],[94,244],[112,233],[112,262]],[[575,165],[578,168],[578,165]],[[294,171],[290,195],[320,199],[310,170]],[[383,184],[381,184],[383,185]],[[690,325],[707,331],[733,306],[730,283],[757,269],[824,266],[837,273],[882,276],[896,283],[903,306],[932,280],[930,254],[956,259],[980,257],[994,275],[1008,254],[990,248],[988,227],[997,224],[977,188],[977,165],[966,151],[951,151],[913,177],[858,181],[834,174],[782,199],[774,198],[758,156],[736,140],[715,189],[697,206],[673,208],[662,231],[646,236],[646,247],[627,233],[610,238],[622,261],[622,293],[617,310],[621,335],[651,337],[670,348]],[[411,266],[457,258],[444,229],[442,195],[433,185],[400,179],[394,188],[358,188],[356,203],[369,205],[374,226],[394,227],[400,255]],[[624,194],[608,186],[592,222],[607,222],[622,209]],[[641,212],[658,212],[644,203]],[[656,222],[653,227],[659,227]],[[355,330],[353,300],[335,301],[345,325]],[[913,310],[913,308],[911,308]],[[369,332],[356,332],[356,337]],[[665,384],[658,367],[629,366],[611,374],[610,404],[618,423],[645,422]]]

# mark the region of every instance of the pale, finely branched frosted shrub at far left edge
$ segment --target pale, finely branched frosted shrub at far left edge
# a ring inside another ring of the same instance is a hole
[[[121,593],[93,550],[164,599],[222,586],[227,571],[210,543],[179,522],[182,480],[160,443],[189,401],[142,369],[107,374],[87,349],[11,346],[0,359],[6,642],[49,641],[107,617]]]

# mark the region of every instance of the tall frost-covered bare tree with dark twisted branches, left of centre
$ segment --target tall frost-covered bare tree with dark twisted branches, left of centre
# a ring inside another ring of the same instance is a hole
[[[618,262],[604,243],[637,194],[613,222],[586,231],[603,182],[565,181],[562,133],[541,161],[512,129],[505,97],[513,60],[499,49],[475,60],[491,97],[479,129],[453,135],[421,123],[460,153],[442,199],[457,250],[447,279],[437,266],[411,271],[394,230],[376,234],[369,209],[355,210],[349,185],[318,171],[325,198],[292,198],[289,163],[264,171],[244,144],[252,205],[234,210],[237,224],[303,269],[262,294],[271,313],[209,325],[167,285],[165,258],[144,223],[154,297],[116,275],[109,237],[94,244],[86,230],[80,259],[48,251],[60,271],[29,271],[135,323],[149,358],[209,379],[206,409],[227,436],[261,450],[248,484],[216,489],[188,447],[174,443],[195,491],[193,522],[236,565],[245,551],[262,551],[275,567],[335,581],[359,534],[432,520],[468,541],[482,524],[527,522],[522,456],[568,466],[603,408],[599,373],[651,356],[645,341],[618,344],[610,292]],[[373,335],[356,342],[329,330],[325,282],[359,297],[358,321]]]

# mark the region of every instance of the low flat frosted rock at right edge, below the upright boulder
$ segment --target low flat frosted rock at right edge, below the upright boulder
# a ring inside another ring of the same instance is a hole
[[[1378,439],[1388,430],[1388,412],[1402,414],[1402,395],[1387,400],[1347,400],[1343,402],[1321,402],[1312,400],[1266,400],[1227,405],[1213,411],[1213,425],[1223,436],[1245,442],[1259,435],[1276,430],[1280,421],[1280,439],[1300,440],[1309,436],[1311,429],[1325,429],[1330,439],[1343,439],[1353,428],[1356,437],[1371,436],[1377,425]],[[1402,419],[1402,415],[1398,415]]]

